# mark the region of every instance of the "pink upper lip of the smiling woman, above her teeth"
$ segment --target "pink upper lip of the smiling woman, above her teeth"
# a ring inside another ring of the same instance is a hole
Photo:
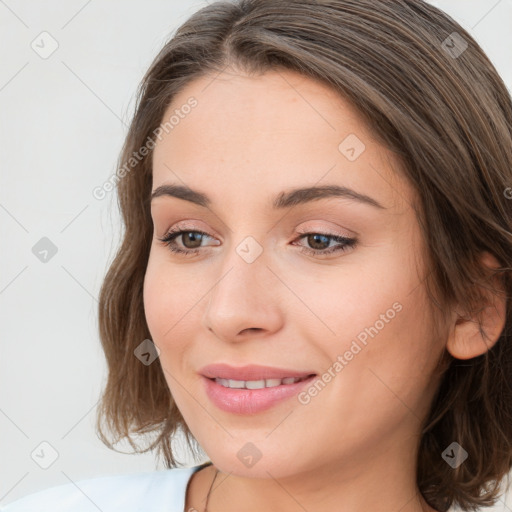
[[[235,367],[224,363],[209,364],[201,368],[199,373],[209,379],[219,378],[232,380],[285,379],[286,377],[307,377],[309,375],[316,375],[316,373],[312,371],[275,368],[254,364]]]

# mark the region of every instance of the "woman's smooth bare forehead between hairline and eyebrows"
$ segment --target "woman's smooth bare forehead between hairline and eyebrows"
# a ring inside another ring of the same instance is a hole
[[[325,181],[372,191],[388,208],[411,194],[357,110],[295,72],[203,76],[174,97],[162,124],[173,115],[154,150],[153,189],[182,180],[214,201],[231,190],[243,202]]]

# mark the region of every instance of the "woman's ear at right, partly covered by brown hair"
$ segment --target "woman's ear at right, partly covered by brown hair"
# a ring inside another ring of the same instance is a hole
[[[489,252],[482,253],[480,261],[491,269],[500,266]],[[496,292],[480,289],[485,297],[481,309],[465,316],[453,313],[446,349],[457,359],[471,359],[484,354],[494,346],[505,328],[506,293],[503,283],[499,276],[494,276],[490,284]]]

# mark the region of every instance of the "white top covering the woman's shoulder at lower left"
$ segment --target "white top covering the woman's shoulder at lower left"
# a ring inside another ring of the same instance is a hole
[[[0,512],[182,512],[187,483],[200,467],[70,482],[0,506]]]

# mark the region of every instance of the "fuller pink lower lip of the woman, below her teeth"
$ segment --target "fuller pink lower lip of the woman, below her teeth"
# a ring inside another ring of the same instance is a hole
[[[310,384],[315,378],[316,375],[313,375],[293,384],[281,384],[261,389],[226,388],[207,377],[203,377],[203,380],[206,394],[219,409],[233,414],[256,414],[297,395],[304,386]]]

